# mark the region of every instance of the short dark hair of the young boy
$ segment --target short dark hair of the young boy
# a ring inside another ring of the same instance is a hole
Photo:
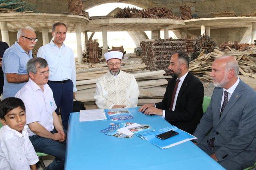
[[[4,116],[11,110],[20,107],[26,111],[25,105],[19,98],[6,98],[0,102],[0,119],[4,119]],[[5,120],[5,119],[4,119]]]

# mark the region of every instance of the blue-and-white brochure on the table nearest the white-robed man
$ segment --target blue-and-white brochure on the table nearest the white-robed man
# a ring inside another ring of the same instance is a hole
[[[128,120],[134,118],[132,113],[130,113],[126,108],[108,109],[106,113],[111,121]]]

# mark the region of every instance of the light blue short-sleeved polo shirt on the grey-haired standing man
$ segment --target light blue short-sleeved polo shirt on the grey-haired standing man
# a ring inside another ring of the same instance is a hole
[[[26,82],[8,83],[6,73],[28,74],[26,65],[28,60],[32,59],[32,50],[28,51],[28,53],[17,42],[4,52],[2,65],[4,72],[3,99],[14,97],[24,84],[26,84]]]

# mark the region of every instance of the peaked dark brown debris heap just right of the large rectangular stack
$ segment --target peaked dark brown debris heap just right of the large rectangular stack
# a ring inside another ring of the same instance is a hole
[[[216,43],[208,36],[206,33],[200,35],[198,39],[196,39],[196,43],[194,44],[194,52],[190,56],[190,60],[196,59],[198,56],[203,54],[211,53],[216,49]]]

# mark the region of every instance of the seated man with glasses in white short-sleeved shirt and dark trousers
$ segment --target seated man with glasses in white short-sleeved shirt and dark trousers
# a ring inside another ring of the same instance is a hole
[[[28,82],[17,92],[26,107],[28,136],[36,150],[55,156],[48,170],[64,169],[66,130],[55,112],[53,93],[47,84],[50,70],[45,59],[35,57],[27,63]]]

